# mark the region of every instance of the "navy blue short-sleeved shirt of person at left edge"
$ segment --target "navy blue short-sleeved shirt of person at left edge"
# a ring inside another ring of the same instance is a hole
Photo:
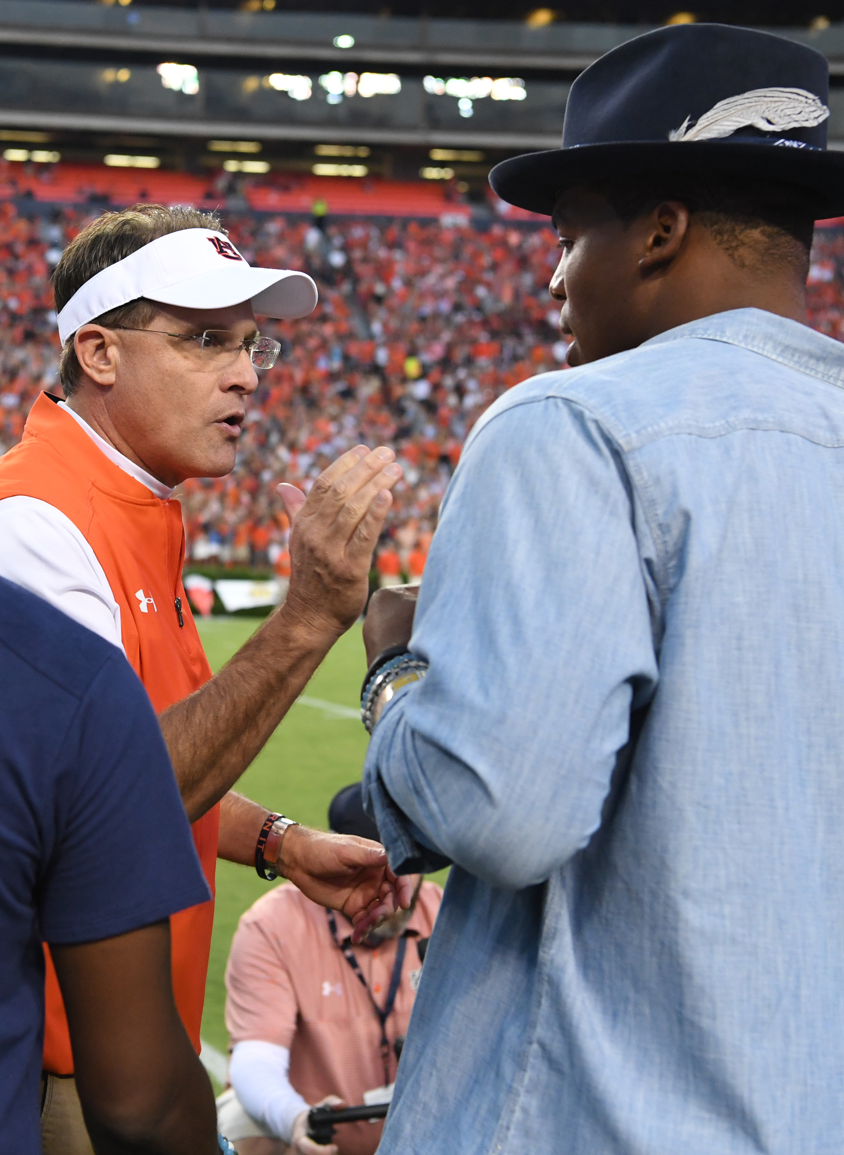
[[[131,836],[129,836],[131,832]],[[209,899],[125,656],[0,579],[0,1140],[40,1152],[44,955]]]

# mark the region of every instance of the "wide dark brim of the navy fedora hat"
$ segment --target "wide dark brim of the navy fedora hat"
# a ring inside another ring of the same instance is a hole
[[[816,219],[844,216],[844,152],[739,141],[631,141],[527,152],[489,174],[503,201],[550,216],[567,188],[642,176],[718,176],[771,180],[807,194]]]

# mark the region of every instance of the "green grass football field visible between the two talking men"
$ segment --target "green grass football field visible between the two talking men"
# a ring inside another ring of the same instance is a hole
[[[254,618],[199,619],[199,632],[212,668],[219,670],[258,625]],[[341,787],[360,780],[363,769],[369,737],[357,710],[365,672],[357,625],[328,654],[305,690],[304,701],[293,707],[236,789],[271,810],[327,829],[328,803]],[[345,710],[353,713],[347,716]],[[217,862],[217,901],[202,1038],[223,1052],[229,1043],[223,1021],[223,975],[231,937],[243,911],[266,894],[269,886],[277,885],[264,882],[253,869]]]

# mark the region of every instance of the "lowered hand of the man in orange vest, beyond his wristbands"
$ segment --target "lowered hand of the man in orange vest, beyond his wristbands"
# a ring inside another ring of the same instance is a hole
[[[399,907],[407,910],[413,900],[412,879],[393,874],[384,847],[353,834],[289,826],[279,865],[312,902],[341,910],[350,919],[354,942]]]

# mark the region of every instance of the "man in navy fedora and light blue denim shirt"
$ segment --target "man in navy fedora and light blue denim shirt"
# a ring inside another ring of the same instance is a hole
[[[827,92],[804,45],[660,29],[493,170],[553,217],[572,368],[472,431],[409,653],[406,597],[367,618],[382,840],[456,864],[380,1155],[844,1150]]]

